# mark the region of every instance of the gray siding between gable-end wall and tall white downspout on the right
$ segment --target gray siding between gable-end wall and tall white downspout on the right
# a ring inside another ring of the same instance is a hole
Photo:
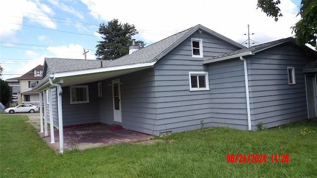
[[[209,64],[212,127],[248,129],[243,61],[231,59]]]

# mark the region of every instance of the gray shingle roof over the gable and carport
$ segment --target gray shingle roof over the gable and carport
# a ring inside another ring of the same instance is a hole
[[[203,29],[207,33],[210,33],[226,41],[227,43],[236,45],[237,47],[240,47],[240,48],[244,47],[243,45],[240,45],[220,34],[217,34],[216,32],[202,25],[197,25],[187,30],[184,30],[182,32],[179,32],[175,35],[167,37],[157,43],[154,43],[152,45],[148,45],[142,49],[139,49],[130,55],[125,55],[111,61],[102,60],[101,62],[101,60],[46,58],[45,62],[47,63],[47,66],[49,66],[50,73],[100,68],[101,63],[103,67],[113,67],[113,66],[155,62],[159,60],[162,56],[164,56],[167,52],[169,52],[169,50],[171,50],[175,45],[181,42],[181,40],[184,40],[185,39],[184,37],[187,37],[187,35],[190,35],[194,31],[197,31],[198,29]]]

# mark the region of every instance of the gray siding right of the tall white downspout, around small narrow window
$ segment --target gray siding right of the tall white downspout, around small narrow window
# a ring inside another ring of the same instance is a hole
[[[312,58],[292,45],[279,45],[247,59],[253,129],[307,119],[303,67]],[[295,85],[288,85],[287,67],[295,67]]]

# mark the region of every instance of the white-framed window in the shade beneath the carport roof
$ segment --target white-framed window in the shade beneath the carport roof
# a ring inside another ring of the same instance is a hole
[[[88,103],[89,90],[88,85],[70,86],[70,104]]]

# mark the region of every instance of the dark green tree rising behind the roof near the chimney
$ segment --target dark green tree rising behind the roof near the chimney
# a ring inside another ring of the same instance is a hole
[[[96,56],[99,60],[113,60],[129,53],[129,46],[132,45],[132,37],[139,32],[134,25],[128,23],[121,24],[118,19],[113,19],[100,24],[99,34],[102,35],[104,41],[98,42],[96,45]],[[143,41],[136,41],[140,48],[144,47]]]

